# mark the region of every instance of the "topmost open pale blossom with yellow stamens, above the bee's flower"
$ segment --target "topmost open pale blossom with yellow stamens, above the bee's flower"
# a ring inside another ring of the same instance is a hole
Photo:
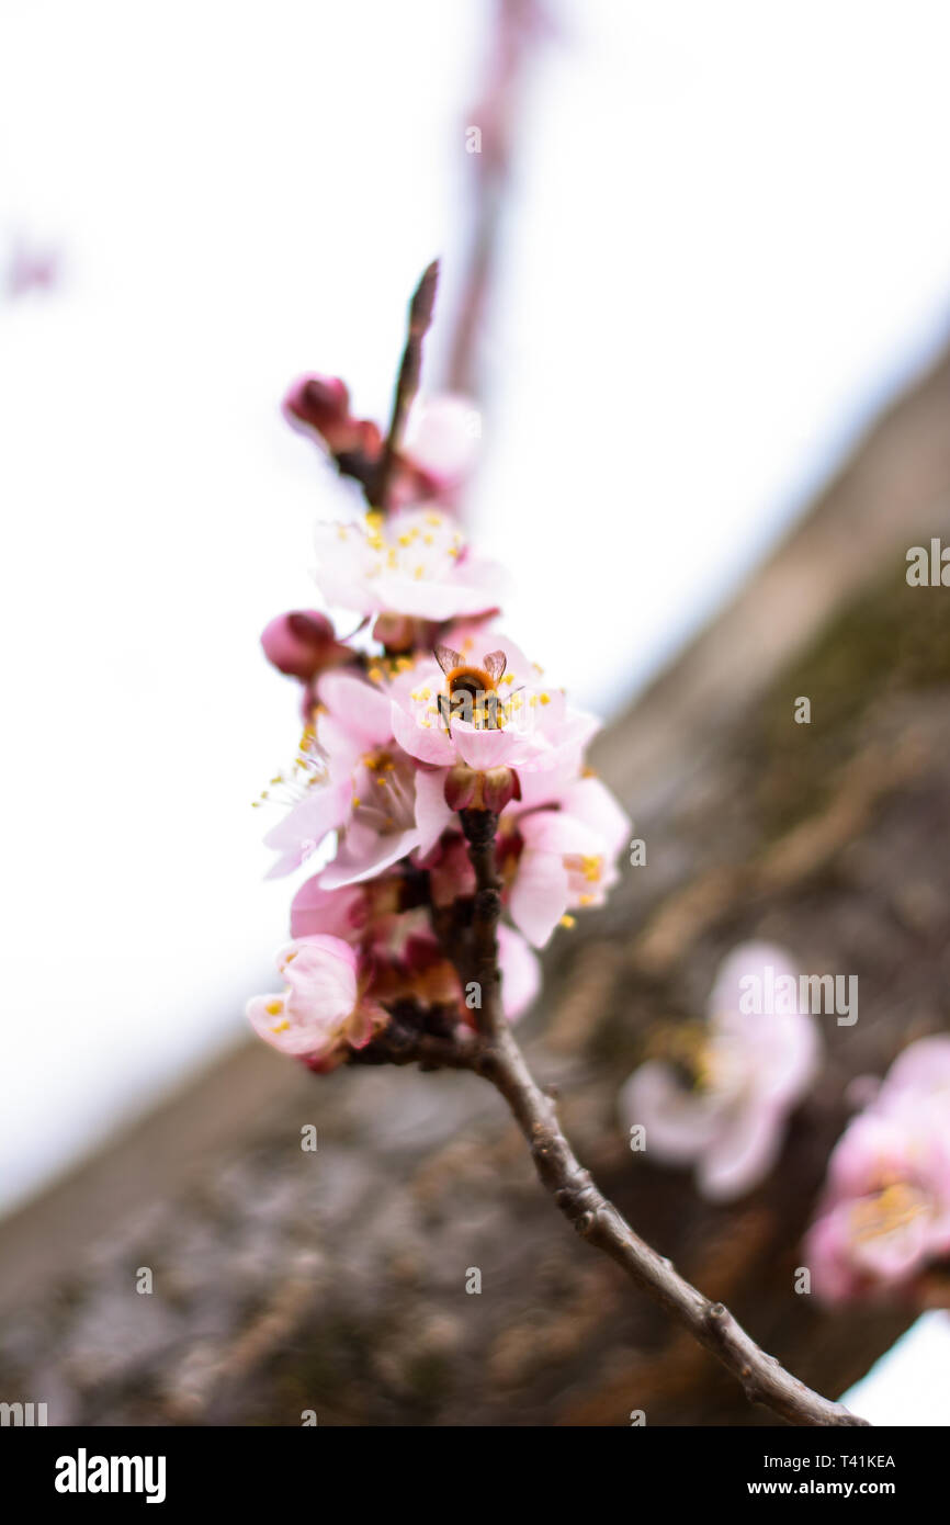
[[[503,581],[496,563],[468,549],[456,522],[432,508],[317,525],[316,543],[320,592],[360,615],[436,622],[477,615],[496,605]]]

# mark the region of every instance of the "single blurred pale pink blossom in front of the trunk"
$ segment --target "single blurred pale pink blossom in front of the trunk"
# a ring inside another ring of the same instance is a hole
[[[729,1200],[772,1170],[791,1110],[817,1071],[820,1040],[810,1013],[744,1013],[741,981],[765,965],[790,974],[785,955],[761,942],[721,964],[686,1089],[672,1066],[648,1060],[621,1092],[627,1125],[642,1124],[647,1151],[672,1165],[694,1164],[703,1196]]]

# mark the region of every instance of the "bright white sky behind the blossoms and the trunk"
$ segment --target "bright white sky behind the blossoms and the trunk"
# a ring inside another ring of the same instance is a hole
[[[476,514],[511,634],[615,708],[942,339],[950,11],[560,9]],[[433,253],[457,290],[483,15],[0,11],[0,230],[66,261],[0,310],[0,1205],[239,1035],[284,936],[256,640],[339,488],[276,404],[313,368],[381,413]]]

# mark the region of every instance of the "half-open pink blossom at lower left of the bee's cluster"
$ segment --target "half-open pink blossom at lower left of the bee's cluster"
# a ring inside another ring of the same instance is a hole
[[[255,996],[247,1017],[258,1037],[282,1054],[332,1069],[346,1049],[364,1048],[387,1020],[360,991],[358,959],[340,938],[297,938],[276,956],[284,990]]]

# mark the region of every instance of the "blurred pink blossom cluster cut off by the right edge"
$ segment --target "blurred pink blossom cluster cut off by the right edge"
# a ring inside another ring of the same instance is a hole
[[[950,1257],[950,1037],[898,1054],[845,1128],[804,1261],[828,1302],[907,1296]]]

